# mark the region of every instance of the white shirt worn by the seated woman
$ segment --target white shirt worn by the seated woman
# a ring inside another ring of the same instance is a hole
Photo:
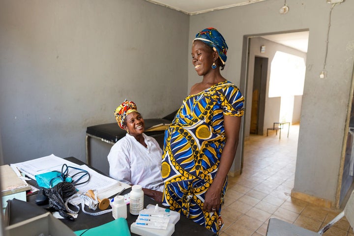
[[[161,178],[162,150],[157,141],[143,133],[147,148],[126,134],[108,154],[110,177],[127,184],[163,191]]]

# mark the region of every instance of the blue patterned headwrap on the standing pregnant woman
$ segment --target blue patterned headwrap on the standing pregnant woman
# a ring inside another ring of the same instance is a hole
[[[201,40],[205,42],[207,45],[212,47],[214,51],[217,51],[219,54],[219,58],[223,65],[225,65],[225,61],[227,59],[226,53],[228,50],[228,46],[225,42],[224,37],[219,33],[219,31],[215,28],[207,28],[196,34],[196,38],[193,40]]]

